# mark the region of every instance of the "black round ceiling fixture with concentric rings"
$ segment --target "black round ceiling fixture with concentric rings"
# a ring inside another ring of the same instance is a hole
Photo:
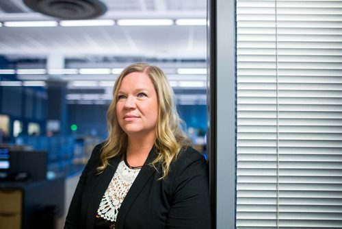
[[[36,12],[55,16],[59,19],[92,19],[107,11],[105,4],[98,0],[23,0]]]

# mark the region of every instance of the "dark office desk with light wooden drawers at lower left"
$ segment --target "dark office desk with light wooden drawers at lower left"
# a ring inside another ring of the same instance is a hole
[[[51,228],[43,209],[64,211],[64,176],[35,182],[0,182],[0,229]]]

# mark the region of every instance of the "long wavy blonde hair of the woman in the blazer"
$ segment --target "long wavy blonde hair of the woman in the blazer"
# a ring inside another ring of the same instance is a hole
[[[146,63],[131,64],[119,75],[114,84],[113,100],[107,110],[108,138],[105,140],[101,151],[101,165],[97,168],[102,172],[108,165],[108,160],[114,156],[123,154],[127,147],[127,134],[120,128],[116,117],[116,102],[118,90],[122,79],[130,73],[146,73],[155,86],[158,98],[158,119],[156,124],[157,158],[150,163],[157,171],[157,164],[161,164],[162,176],[166,178],[170,171],[170,164],[176,160],[182,147],[190,145],[189,138],[181,129],[182,120],[179,118],[174,104],[174,93],[166,75],[159,67]]]

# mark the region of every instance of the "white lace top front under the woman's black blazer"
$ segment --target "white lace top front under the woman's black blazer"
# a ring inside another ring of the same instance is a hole
[[[119,163],[118,169],[116,169],[116,172],[102,197],[100,206],[98,206],[97,214],[100,215],[100,217],[107,219],[108,221],[116,221],[122,201],[124,200],[124,197],[126,197],[139,172],[140,168],[131,169],[126,165],[124,160]]]

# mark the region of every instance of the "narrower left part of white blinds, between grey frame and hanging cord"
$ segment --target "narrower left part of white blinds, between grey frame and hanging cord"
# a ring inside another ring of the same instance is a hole
[[[237,228],[276,228],[274,1],[237,1]]]

